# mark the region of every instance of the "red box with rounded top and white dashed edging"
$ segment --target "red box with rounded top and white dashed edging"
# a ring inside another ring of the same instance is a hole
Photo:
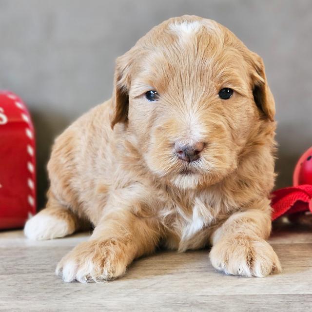
[[[0,92],[0,229],[23,227],[36,213],[34,127],[23,101]]]

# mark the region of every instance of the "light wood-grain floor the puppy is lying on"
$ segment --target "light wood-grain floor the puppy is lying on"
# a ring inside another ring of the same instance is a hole
[[[121,279],[64,283],[58,260],[88,234],[33,242],[0,232],[0,311],[312,311],[312,231],[290,227],[270,239],[283,273],[243,278],[217,273],[208,250],[159,252]]]

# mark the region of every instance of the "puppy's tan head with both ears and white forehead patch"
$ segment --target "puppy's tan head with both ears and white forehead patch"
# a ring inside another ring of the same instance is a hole
[[[262,59],[193,16],[163,22],[117,59],[113,105],[112,127],[125,123],[151,172],[180,188],[232,173],[274,118]]]

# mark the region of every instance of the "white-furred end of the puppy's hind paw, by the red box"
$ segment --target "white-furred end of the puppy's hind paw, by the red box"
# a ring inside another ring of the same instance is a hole
[[[26,222],[24,234],[30,239],[41,240],[64,237],[71,233],[65,220],[52,215],[38,214]]]

